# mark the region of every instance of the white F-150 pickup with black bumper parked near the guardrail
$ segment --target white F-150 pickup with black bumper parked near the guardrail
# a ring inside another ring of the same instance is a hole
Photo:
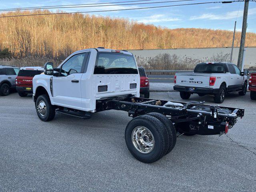
[[[194,73],[176,73],[174,90],[180,91],[182,99],[189,99],[195,93],[199,96],[211,94],[214,102],[222,103],[227,93],[246,94],[247,75],[248,70],[240,72],[232,63],[199,63]]]

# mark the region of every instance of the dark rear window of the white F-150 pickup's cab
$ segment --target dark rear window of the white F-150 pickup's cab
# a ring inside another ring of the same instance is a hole
[[[225,73],[226,67],[224,64],[197,64],[194,69],[195,73]]]

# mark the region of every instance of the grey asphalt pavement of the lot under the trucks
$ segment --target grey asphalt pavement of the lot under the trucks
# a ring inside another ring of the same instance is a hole
[[[181,101],[178,92],[150,98]],[[191,100],[213,104],[210,96]],[[42,122],[31,96],[0,97],[0,191],[255,191],[256,102],[248,93],[231,94],[221,105],[245,108],[228,134],[180,136],[172,152],[144,164],[125,144],[127,112],[99,112],[89,120],[56,114]]]

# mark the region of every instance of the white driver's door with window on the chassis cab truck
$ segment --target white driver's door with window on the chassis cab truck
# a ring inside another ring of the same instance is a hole
[[[71,56],[52,78],[52,94],[56,105],[82,109],[81,77],[88,52]]]

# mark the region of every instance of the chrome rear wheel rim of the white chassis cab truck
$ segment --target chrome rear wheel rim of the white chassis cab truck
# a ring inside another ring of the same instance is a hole
[[[154,136],[144,126],[138,126],[132,131],[132,144],[140,153],[148,154],[154,149]]]

